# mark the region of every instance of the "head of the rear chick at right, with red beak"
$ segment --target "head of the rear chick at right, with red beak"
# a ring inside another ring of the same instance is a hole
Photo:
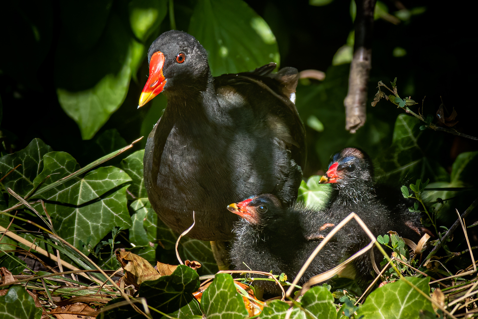
[[[336,153],[319,182],[332,183],[344,203],[375,197],[373,166],[369,156],[359,148],[344,148]]]

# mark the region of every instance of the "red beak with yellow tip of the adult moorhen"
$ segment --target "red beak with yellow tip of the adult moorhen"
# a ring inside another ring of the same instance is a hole
[[[140,95],[138,107],[148,103],[153,97],[161,93],[166,84],[163,76],[164,55],[162,52],[155,52],[150,60],[150,76],[144,85]]]

